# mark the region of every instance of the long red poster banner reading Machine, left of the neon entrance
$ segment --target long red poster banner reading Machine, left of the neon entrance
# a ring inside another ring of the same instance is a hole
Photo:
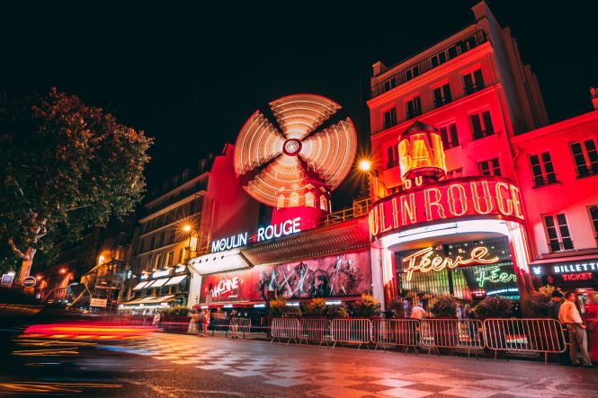
[[[370,289],[366,250],[207,275],[201,281],[201,299],[205,301],[210,292],[212,302],[232,302],[263,301],[269,296],[358,296]]]

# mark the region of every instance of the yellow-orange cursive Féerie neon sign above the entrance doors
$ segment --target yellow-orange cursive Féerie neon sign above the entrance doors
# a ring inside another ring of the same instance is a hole
[[[438,272],[446,268],[453,269],[462,265],[494,264],[495,262],[499,261],[498,257],[493,257],[491,259],[485,258],[487,254],[488,248],[486,246],[478,246],[471,249],[468,259],[464,259],[460,255],[458,255],[455,259],[451,259],[449,257],[441,257],[440,255],[436,254],[433,252],[432,247],[426,247],[418,252],[409,254],[403,259],[403,262],[408,264],[404,271],[407,274],[407,280],[411,280],[411,277],[415,271]]]

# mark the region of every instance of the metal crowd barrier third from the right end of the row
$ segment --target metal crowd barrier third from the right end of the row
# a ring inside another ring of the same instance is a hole
[[[416,319],[375,319],[371,321],[371,341],[379,346],[403,346],[415,349],[420,341],[420,324]],[[415,352],[417,352],[415,350]]]

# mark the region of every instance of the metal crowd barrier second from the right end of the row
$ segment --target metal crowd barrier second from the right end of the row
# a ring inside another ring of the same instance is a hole
[[[421,321],[420,342],[428,349],[484,349],[483,324],[477,319],[424,319]],[[440,353],[440,352],[439,352]]]

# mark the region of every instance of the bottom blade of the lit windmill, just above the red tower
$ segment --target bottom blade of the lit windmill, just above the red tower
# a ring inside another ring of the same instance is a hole
[[[300,206],[305,203],[303,191],[307,183],[297,156],[281,155],[249,181],[246,190],[254,199],[272,208],[277,207],[281,195],[284,207],[290,207],[291,194],[298,200],[293,206]]]

